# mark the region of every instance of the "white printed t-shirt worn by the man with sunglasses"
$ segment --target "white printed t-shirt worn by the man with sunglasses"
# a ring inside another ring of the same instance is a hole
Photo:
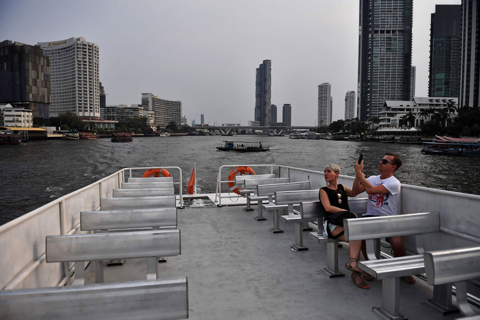
[[[389,216],[398,214],[398,203],[400,202],[400,181],[393,175],[380,179],[380,175],[373,175],[367,178],[374,187],[382,184],[390,193],[368,195],[367,214],[372,216]]]

